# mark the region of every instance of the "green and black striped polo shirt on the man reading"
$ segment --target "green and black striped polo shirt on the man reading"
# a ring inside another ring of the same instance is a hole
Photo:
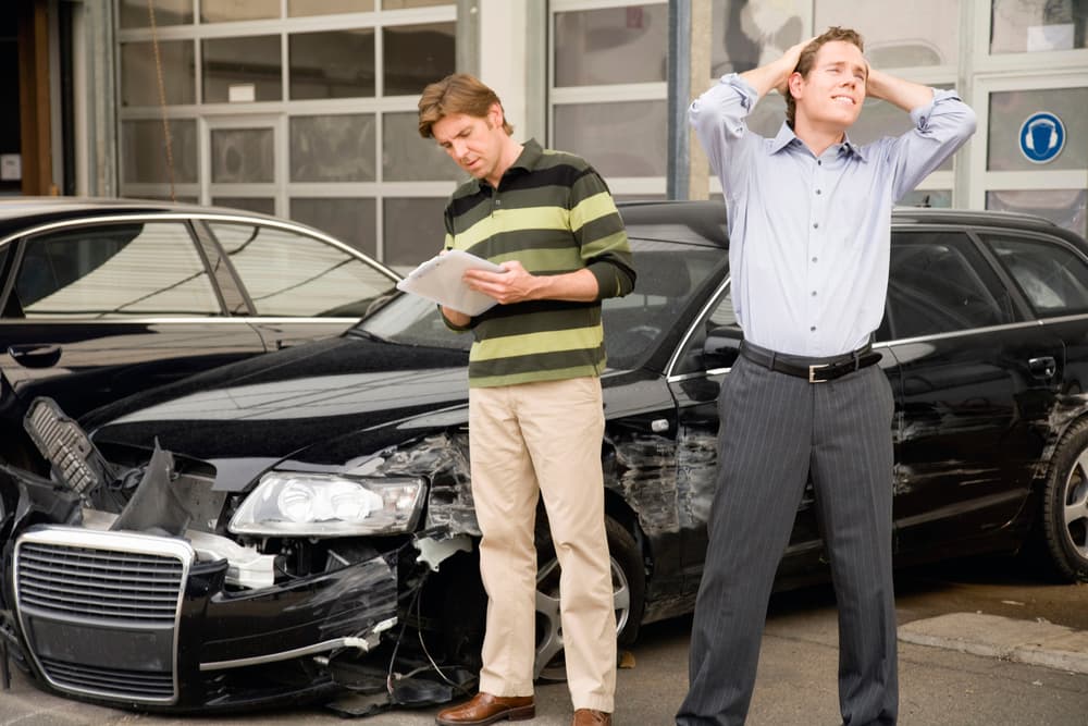
[[[475,336],[469,386],[556,381],[604,370],[601,299],[627,295],[635,274],[623,221],[592,167],[529,140],[498,188],[473,179],[454,192],[445,223],[446,249],[496,263],[517,260],[537,275],[589,268],[599,288],[593,303],[496,305],[465,328],[446,320]]]

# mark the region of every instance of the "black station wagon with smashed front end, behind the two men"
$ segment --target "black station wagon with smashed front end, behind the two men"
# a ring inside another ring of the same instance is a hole
[[[721,205],[621,212],[639,286],[605,303],[602,459],[629,642],[694,604],[716,398],[741,334]],[[897,397],[898,564],[1029,550],[1088,577],[1085,341],[1078,236],[1023,216],[895,212],[874,348]],[[58,693],[152,711],[324,699],[367,714],[471,691],[486,598],[469,343],[405,295],[342,337],[78,422],[37,401],[26,429],[50,477],[0,468],[5,660]],[[536,542],[536,673],[561,677],[543,513]],[[777,587],[827,578],[823,555],[808,490]]]

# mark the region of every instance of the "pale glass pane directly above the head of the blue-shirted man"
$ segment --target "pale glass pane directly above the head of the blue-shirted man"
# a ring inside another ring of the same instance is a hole
[[[865,40],[865,56],[874,67],[955,65],[959,62],[959,0],[816,0],[814,4],[815,32],[823,33],[831,25],[856,29]]]

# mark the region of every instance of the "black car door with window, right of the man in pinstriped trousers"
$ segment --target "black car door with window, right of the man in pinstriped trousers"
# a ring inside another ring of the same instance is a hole
[[[900,561],[992,534],[1019,512],[1064,365],[963,229],[892,236],[887,318],[901,378],[893,510]]]

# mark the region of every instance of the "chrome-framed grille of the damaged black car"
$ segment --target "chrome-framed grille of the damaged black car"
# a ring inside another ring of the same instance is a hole
[[[37,527],[15,547],[15,603],[28,649],[60,690],[176,700],[176,632],[194,559],[181,540]]]

